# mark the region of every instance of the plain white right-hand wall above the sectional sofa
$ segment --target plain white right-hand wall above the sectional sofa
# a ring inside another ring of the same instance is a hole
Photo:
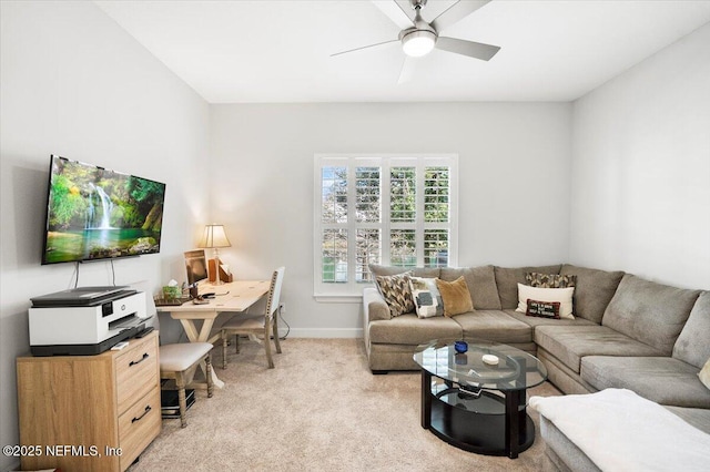
[[[574,263],[710,289],[710,24],[578,100]]]

